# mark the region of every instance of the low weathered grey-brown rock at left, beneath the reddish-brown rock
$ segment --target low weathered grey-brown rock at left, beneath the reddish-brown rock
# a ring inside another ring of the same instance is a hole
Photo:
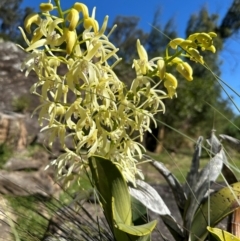
[[[35,156],[34,156],[35,155]],[[53,181],[53,170],[44,170],[49,155],[38,150],[32,157],[15,153],[0,170],[0,193],[17,196],[54,196],[59,186]]]

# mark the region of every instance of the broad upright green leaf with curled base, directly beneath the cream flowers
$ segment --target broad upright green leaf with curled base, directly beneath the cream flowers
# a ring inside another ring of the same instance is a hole
[[[90,159],[93,179],[105,216],[117,241],[150,241],[157,221],[132,225],[131,198],[120,170],[110,160],[99,156]]]

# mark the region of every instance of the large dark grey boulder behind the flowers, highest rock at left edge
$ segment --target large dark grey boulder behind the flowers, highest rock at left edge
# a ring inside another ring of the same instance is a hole
[[[29,89],[36,82],[36,75],[30,73],[26,77],[20,71],[21,63],[26,54],[12,42],[0,42],[0,111],[13,111],[13,101],[27,96],[29,99],[28,110],[32,111],[38,99],[29,95]]]

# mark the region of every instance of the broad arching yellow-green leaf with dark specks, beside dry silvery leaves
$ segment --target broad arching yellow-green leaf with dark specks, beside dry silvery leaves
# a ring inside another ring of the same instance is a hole
[[[240,182],[222,188],[209,198],[210,203],[208,203],[208,200],[205,200],[193,218],[190,230],[191,241],[204,240],[206,238],[208,220],[210,225],[214,227],[224,217],[239,208]]]

